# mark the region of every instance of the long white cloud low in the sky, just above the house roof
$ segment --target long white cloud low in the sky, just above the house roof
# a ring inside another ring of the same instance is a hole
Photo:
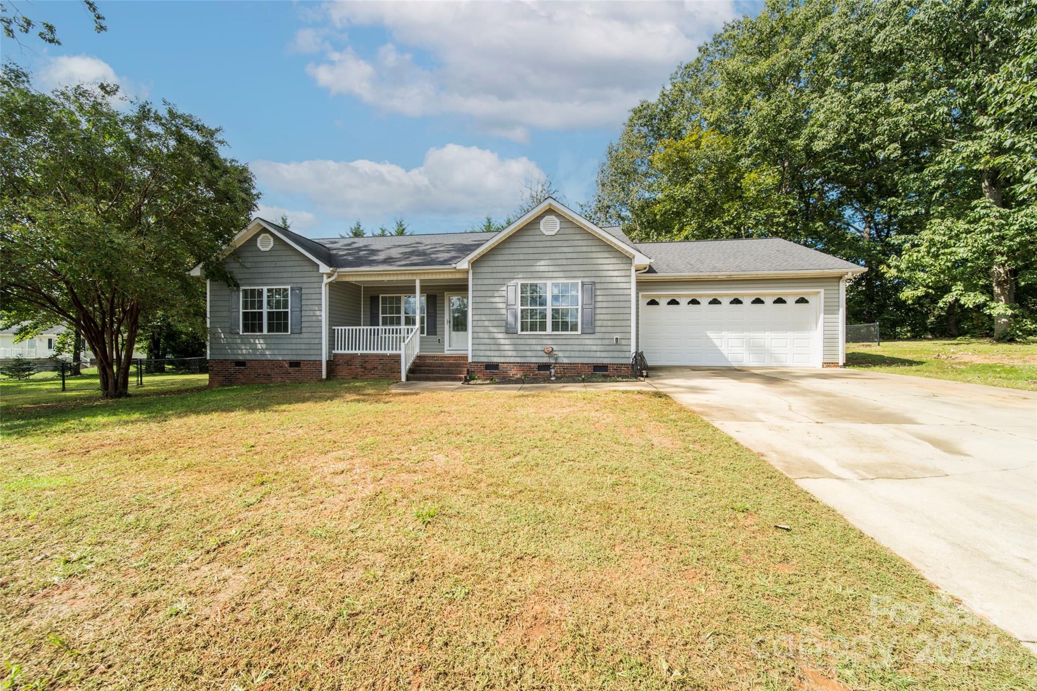
[[[458,144],[428,149],[421,166],[410,170],[366,160],[257,161],[251,167],[264,190],[302,195],[324,213],[365,223],[394,215],[504,215],[517,204],[524,182],[543,176],[525,156],[501,159]]]

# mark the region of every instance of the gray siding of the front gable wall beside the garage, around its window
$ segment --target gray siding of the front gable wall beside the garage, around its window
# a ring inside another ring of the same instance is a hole
[[[546,362],[550,345],[563,363],[629,362],[630,257],[561,214],[560,230],[544,235],[542,215],[472,263],[472,361]],[[505,286],[552,280],[594,282],[594,333],[505,334]]]

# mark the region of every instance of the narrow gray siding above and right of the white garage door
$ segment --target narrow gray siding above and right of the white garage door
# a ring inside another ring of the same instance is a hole
[[[782,291],[824,290],[822,325],[824,327],[822,359],[825,363],[839,362],[839,278],[823,279],[712,279],[695,281],[654,280],[638,281],[638,294],[643,292],[712,291],[718,294],[740,291]],[[640,301],[640,300],[639,300]],[[639,336],[640,338],[640,336]],[[639,348],[640,349],[640,348]],[[649,363],[650,365],[650,363]]]

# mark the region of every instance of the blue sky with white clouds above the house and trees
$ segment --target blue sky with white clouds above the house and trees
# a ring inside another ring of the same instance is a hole
[[[466,230],[550,175],[570,204],[625,114],[754,4],[17,2],[62,46],[6,57],[37,84],[115,80],[224,128],[260,212],[336,235],[403,218]]]

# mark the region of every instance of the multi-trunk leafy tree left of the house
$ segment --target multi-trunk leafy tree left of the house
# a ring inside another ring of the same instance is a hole
[[[117,88],[34,90],[0,77],[0,297],[12,320],[66,323],[97,357],[106,396],[127,394],[142,319],[200,303],[258,197],[218,128]]]

